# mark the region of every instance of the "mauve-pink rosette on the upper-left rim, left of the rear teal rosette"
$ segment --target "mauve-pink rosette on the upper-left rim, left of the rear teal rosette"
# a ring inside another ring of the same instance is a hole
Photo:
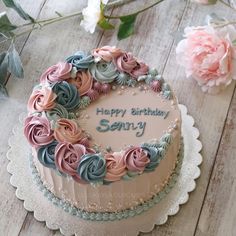
[[[49,67],[40,77],[41,83],[55,83],[67,80],[71,77],[70,72],[72,65],[67,62],[58,62],[56,65]]]

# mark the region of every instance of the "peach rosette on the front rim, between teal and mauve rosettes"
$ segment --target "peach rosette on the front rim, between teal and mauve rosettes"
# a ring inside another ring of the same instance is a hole
[[[118,181],[126,174],[126,165],[124,162],[124,153],[114,152],[105,155],[107,172],[106,181]]]

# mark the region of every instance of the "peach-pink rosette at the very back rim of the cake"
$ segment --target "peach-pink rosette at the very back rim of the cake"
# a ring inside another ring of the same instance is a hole
[[[104,61],[110,62],[122,54],[122,50],[115,46],[104,46],[96,48],[92,51],[92,55],[96,58],[101,58]]]

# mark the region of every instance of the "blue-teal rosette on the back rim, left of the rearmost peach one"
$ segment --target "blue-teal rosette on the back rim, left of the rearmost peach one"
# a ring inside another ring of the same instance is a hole
[[[83,51],[78,51],[74,55],[68,57],[66,61],[77,69],[88,69],[90,65],[94,63],[94,57]]]

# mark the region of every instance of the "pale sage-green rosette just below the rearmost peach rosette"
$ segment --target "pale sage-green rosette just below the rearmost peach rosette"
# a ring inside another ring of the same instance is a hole
[[[93,78],[100,83],[111,83],[119,75],[119,72],[112,62],[100,61],[93,64],[89,70]]]

